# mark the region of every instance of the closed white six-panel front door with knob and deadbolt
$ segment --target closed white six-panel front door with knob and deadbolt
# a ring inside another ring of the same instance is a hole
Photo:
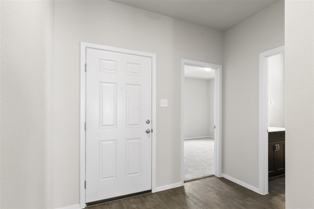
[[[86,203],[151,190],[152,58],[87,48],[86,65]]]

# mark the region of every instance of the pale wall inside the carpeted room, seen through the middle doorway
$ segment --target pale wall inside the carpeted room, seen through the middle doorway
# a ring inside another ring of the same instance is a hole
[[[208,79],[184,78],[184,138],[213,137],[213,92]]]

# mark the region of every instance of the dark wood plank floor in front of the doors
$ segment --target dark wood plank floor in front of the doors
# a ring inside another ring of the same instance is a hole
[[[87,209],[284,209],[285,176],[270,179],[268,187],[268,195],[259,195],[224,178],[208,177]]]

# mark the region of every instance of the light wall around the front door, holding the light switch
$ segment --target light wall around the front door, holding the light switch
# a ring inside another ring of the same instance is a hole
[[[157,54],[157,186],[179,183],[181,59],[221,64],[222,33],[107,0],[55,1],[54,21],[55,207],[79,203],[80,41]]]

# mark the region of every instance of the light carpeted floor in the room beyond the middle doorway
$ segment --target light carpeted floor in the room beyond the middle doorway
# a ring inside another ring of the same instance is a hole
[[[184,140],[184,182],[214,173],[214,139]]]

